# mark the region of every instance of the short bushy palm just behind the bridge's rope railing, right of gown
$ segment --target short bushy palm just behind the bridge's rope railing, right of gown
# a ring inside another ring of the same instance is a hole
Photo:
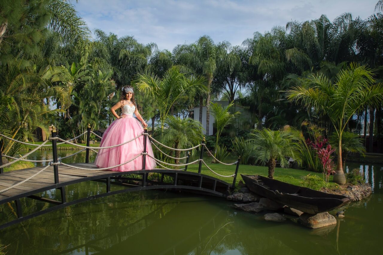
[[[202,129],[201,123],[197,120],[167,116],[160,141],[176,149],[193,147],[201,142]],[[179,158],[180,155],[181,152],[176,150],[175,157]],[[175,163],[178,164],[179,161],[179,159],[176,159]]]

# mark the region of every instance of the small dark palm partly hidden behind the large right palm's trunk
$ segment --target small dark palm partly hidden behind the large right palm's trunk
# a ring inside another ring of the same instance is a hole
[[[333,133],[330,137],[330,144],[336,150],[338,154],[339,148],[339,140],[336,133]],[[343,161],[343,169],[346,166],[346,159],[350,153],[360,153],[364,154],[366,152],[366,148],[363,145],[362,140],[359,138],[358,134],[351,132],[343,132],[342,134],[342,161]]]

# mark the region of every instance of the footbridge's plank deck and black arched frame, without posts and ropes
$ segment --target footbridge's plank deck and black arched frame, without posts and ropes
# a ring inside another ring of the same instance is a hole
[[[32,178],[27,183],[23,183],[20,186],[16,186],[11,190],[3,192],[0,195],[0,204],[15,201],[17,219],[1,225],[0,229],[3,229],[21,221],[25,221],[27,219],[31,219],[41,214],[45,214],[47,212],[64,208],[66,206],[81,203],[95,198],[101,198],[104,196],[115,195],[129,191],[177,189],[183,191],[203,193],[206,195],[226,197],[229,193],[229,190],[231,189],[231,184],[226,183],[225,181],[221,181],[217,178],[195,172],[165,169],[113,172],[97,170],[93,163],[74,163],[70,165],[88,168],[89,170],[78,170],[70,167],[61,167],[59,170],[60,182],[54,183],[54,168],[53,166],[50,166],[38,177]],[[15,183],[18,183],[23,179],[26,179],[34,173],[38,172],[39,170],[41,170],[41,168],[43,167],[34,167],[2,173],[0,177],[0,188],[6,188],[7,186],[11,186]],[[149,173],[159,174],[160,180],[151,180],[150,178],[148,178]],[[141,175],[141,178],[123,176],[132,174]],[[164,177],[166,176],[171,177],[173,182],[164,182]],[[73,201],[66,201],[65,187],[71,184],[81,183],[84,181],[99,181],[105,183],[106,193],[92,195]],[[134,182],[134,184],[132,184],[132,182]],[[112,185],[125,186],[126,188],[122,190],[111,191],[110,187]],[[36,193],[52,189],[59,189],[61,191],[61,201],[42,198],[35,195]],[[54,204],[55,206],[44,209],[43,211],[34,212],[32,214],[24,216],[22,204],[20,203],[20,198],[36,199]]]

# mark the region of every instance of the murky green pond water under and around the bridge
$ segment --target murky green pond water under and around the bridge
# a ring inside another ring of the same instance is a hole
[[[59,156],[73,152],[59,151]],[[47,159],[50,154],[40,151],[33,157]],[[84,162],[84,157],[81,153],[74,160]],[[361,169],[373,195],[350,204],[343,219],[322,229],[290,220],[264,221],[263,214],[237,211],[231,202],[215,197],[141,191],[94,199],[15,224],[0,230],[0,244],[6,245],[3,252],[8,255],[383,254],[383,165],[348,167]],[[105,190],[103,183],[84,182],[70,185],[67,196],[71,201]],[[41,195],[60,199],[56,190]],[[51,207],[32,199],[21,202],[25,214]],[[1,224],[15,218],[13,203],[0,207]]]

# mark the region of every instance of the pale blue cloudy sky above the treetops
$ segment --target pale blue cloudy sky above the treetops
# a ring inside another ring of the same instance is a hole
[[[99,28],[170,51],[207,34],[214,42],[241,45],[255,31],[264,33],[288,21],[330,20],[350,12],[365,19],[378,0],[79,0],[76,10],[93,31]]]

